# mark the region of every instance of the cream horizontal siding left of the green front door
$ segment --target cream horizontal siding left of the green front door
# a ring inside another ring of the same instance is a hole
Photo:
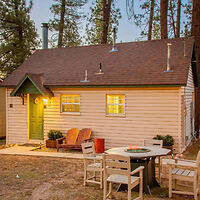
[[[8,144],[22,144],[27,142],[27,102],[25,100],[23,105],[20,97],[11,97],[11,91],[12,89],[7,90],[6,142]]]

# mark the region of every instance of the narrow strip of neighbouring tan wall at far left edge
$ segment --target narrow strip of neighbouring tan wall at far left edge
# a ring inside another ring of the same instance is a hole
[[[0,88],[0,137],[6,136],[6,89]]]

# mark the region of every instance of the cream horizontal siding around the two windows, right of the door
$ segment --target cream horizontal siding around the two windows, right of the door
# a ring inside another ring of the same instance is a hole
[[[141,144],[156,134],[172,135],[180,143],[180,89],[52,89],[55,97],[44,111],[45,138],[50,129],[91,128],[105,138],[106,148]],[[61,94],[80,94],[80,115],[60,113]],[[125,94],[125,117],[107,117],[106,94]]]

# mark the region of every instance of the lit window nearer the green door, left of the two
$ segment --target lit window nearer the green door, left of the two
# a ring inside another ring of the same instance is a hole
[[[79,113],[80,112],[80,95],[62,95],[61,112]]]

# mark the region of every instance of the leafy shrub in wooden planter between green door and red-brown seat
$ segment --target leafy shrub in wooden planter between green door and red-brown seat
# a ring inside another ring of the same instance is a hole
[[[58,130],[49,130],[48,132],[48,140],[46,140],[47,148],[56,148],[56,139],[62,138],[63,134]]]

